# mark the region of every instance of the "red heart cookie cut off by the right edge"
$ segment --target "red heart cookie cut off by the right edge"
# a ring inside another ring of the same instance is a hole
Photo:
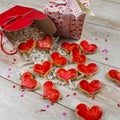
[[[112,69],[107,72],[107,77],[120,84],[120,72],[118,70]]]

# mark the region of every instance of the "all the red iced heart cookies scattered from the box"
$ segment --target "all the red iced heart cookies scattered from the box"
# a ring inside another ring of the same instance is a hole
[[[45,51],[52,51],[53,39],[51,36],[46,36],[41,40],[30,39],[26,43],[21,43],[18,46],[18,50],[21,53],[30,54],[34,48]],[[64,66],[67,65],[67,57],[61,55],[59,51],[54,51],[50,54],[48,61],[43,61],[43,63],[36,63],[33,65],[33,73],[38,74],[40,77],[46,77],[49,72],[57,67],[56,77],[59,80],[64,81],[66,84],[69,80],[76,80],[79,75],[84,75],[86,79],[81,79],[78,83],[78,88],[89,96],[94,96],[95,93],[99,92],[102,83],[99,80],[89,79],[98,70],[98,66],[95,63],[89,63],[85,65],[87,60],[86,54],[93,54],[97,50],[95,44],[89,44],[86,40],[80,42],[80,44],[63,42],[60,45],[61,50],[64,50],[66,54],[70,56],[70,63],[77,64],[77,68],[65,69]],[[120,83],[120,72],[117,70],[110,70],[107,76],[118,83]],[[21,87],[27,88],[29,90],[35,90],[39,86],[37,80],[34,79],[32,73],[29,71],[25,72],[21,76]],[[54,103],[61,98],[60,92],[55,88],[52,81],[47,81],[43,84],[43,97],[47,98]],[[102,109],[99,106],[93,106],[88,108],[85,104],[79,104],[75,109],[77,115],[85,120],[99,120],[102,117]]]

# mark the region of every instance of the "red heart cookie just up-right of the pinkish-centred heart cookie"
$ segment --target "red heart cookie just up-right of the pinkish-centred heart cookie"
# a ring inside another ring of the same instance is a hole
[[[90,78],[98,70],[98,66],[95,63],[90,63],[87,66],[80,63],[78,64],[77,68],[80,73],[84,74],[88,78]]]

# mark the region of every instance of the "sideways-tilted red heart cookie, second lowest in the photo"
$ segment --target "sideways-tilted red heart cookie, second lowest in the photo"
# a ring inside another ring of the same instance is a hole
[[[52,81],[47,81],[43,85],[43,97],[50,100],[53,104],[60,99],[60,92],[55,89],[54,83]]]

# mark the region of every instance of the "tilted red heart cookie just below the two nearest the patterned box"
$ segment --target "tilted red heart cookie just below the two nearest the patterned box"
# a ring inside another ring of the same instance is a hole
[[[80,53],[80,50],[78,47],[75,47],[72,50],[71,56],[72,56],[73,63],[84,63],[87,60],[86,56]]]

